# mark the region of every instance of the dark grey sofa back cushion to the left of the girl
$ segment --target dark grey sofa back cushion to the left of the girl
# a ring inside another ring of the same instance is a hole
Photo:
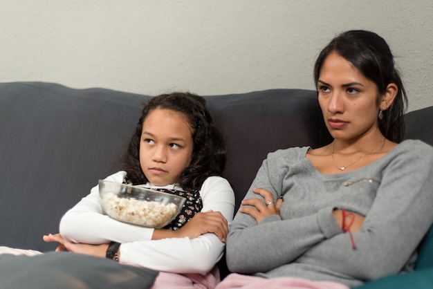
[[[0,84],[0,245],[53,250],[64,212],[116,168],[143,95]]]

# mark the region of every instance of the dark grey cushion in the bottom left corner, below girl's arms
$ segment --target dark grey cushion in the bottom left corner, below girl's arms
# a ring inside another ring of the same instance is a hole
[[[5,289],[145,289],[157,275],[154,270],[84,254],[0,255],[0,288]]]

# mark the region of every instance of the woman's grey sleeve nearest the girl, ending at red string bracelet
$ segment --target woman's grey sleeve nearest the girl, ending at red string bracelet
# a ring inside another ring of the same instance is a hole
[[[281,180],[290,168],[289,164],[275,167],[273,159],[280,157],[278,153],[268,155],[245,198],[261,198],[252,192],[254,187],[267,189],[274,199],[281,196]],[[286,220],[271,215],[259,224],[250,215],[238,212],[227,240],[228,268],[232,272],[250,274],[266,272],[295,260],[317,243],[341,232],[332,210],[333,207],[324,207],[315,214]]]

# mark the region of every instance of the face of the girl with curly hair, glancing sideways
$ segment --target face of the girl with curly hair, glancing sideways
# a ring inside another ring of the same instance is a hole
[[[192,158],[192,129],[185,115],[154,109],[142,126],[140,166],[150,183],[176,183]]]

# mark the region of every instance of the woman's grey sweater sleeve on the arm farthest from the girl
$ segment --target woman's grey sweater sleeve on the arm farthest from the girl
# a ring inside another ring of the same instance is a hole
[[[411,260],[433,222],[433,148],[411,142],[389,162],[361,230],[338,234],[305,254],[321,256],[327,266],[360,280],[396,274]],[[335,250],[329,250],[334,248]],[[356,260],[347,266],[347,260]],[[372,265],[374,264],[374,265]],[[413,265],[413,264],[412,264]]]

